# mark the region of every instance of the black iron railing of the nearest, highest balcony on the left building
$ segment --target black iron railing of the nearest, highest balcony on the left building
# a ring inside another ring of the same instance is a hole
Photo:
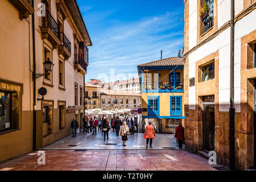
[[[42,17],[42,27],[50,28],[54,35],[56,35],[56,37],[60,40],[60,28],[48,10],[46,10],[46,16]]]

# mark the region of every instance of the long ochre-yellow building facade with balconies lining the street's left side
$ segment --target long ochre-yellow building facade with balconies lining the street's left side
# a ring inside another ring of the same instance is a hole
[[[83,116],[92,43],[75,0],[0,4],[1,162],[72,133],[72,118]]]

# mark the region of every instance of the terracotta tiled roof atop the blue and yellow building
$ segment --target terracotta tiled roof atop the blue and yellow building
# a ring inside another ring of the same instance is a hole
[[[168,67],[184,65],[185,59],[183,57],[168,57],[149,63],[137,65],[137,67]]]

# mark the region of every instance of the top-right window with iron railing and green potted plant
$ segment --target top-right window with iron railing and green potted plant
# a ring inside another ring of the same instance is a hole
[[[200,16],[202,19],[202,34],[204,34],[213,27],[213,0],[205,0],[202,3]]]

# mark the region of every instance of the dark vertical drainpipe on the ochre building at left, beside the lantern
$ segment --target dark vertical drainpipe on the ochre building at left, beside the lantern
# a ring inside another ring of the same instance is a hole
[[[32,7],[34,8],[34,0],[32,0]],[[36,150],[36,59],[35,59],[35,13],[32,14],[32,40],[33,40],[33,151]]]

